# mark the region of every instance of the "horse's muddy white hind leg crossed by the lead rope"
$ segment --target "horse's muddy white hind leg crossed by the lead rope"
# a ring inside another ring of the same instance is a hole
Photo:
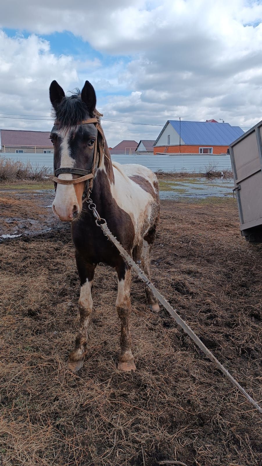
[[[149,280],[151,280],[150,274],[150,253],[152,249],[152,245],[155,239],[156,229],[152,228],[143,239],[142,249],[141,249],[141,264],[144,269],[144,273],[147,275]],[[146,293],[146,304],[147,306],[155,312],[159,311],[159,305],[157,298],[153,295],[153,292],[150,288],[145,285],[145,293]]]

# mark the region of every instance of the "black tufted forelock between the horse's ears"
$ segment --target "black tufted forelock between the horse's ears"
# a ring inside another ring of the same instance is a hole
[[[86,104],[81,100],[81,92],[75,89],[75,94],[64,97],[55,110],[55,117],[59,125],[64,128],[75,126],[89,115]]]

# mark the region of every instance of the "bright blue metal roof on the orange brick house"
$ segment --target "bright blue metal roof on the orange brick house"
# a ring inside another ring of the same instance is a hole
[[[179,134],[179,120],[169,120]],[[192,145],[229,145],[244,131],[229,123],[208,123],[205,121],[181,121],[180,136],[185,144]]]

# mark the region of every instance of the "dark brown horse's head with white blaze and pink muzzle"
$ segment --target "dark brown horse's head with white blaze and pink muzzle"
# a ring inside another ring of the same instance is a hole
[[[96,94],[90,82],[86,81],[81,93],[66,97],[59,84],[53,81],[50,100],[56,116],[50,138],[54,145],[54,171],[58,178],[52,210],[60,220],[72,221],[82,210],[82,197],[88,181],[71,184],[70,180],[91,173],[95,164],[98,131],[95,124],[82,122],[94,117]],[[73,169],[71,173],[70,169]],[[75,173],[72,174],[73,171]],[[69,183],[60,184],[64,180]]]

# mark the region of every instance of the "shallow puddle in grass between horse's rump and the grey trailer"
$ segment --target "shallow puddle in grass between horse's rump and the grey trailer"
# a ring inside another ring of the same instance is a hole
[[[234,188],[233,178],[206,179],[180,178],[176,181],[160,180],[160,199],[192,199],[207,197],[232,196]]]

